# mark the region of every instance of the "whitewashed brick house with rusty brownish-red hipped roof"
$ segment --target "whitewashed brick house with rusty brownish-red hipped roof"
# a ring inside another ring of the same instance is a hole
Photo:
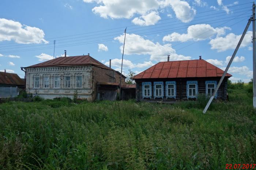
[[[55,58],[25,67],[25,71],[26,92],[49,99],[73,98],[77,90],[79,98],[95,100],[97,82],[118,81],[115,70],[89,55]]]

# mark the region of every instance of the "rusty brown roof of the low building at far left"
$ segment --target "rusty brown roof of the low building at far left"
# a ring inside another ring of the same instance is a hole
[[[0,72],[0,84],[23,86],[25,82],[18,74]]]

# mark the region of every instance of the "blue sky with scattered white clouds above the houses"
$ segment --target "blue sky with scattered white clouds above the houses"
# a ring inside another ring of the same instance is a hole
[[[87,55],[136,74],[160,61],[202,59],[225,69],[252,15],[249,0],[0,1],[0,71]],[[54,51],[55,40],[55,51]],[[252,24],[228,71],[249,82]]]

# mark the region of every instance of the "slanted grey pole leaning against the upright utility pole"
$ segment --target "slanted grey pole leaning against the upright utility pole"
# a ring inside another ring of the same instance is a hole
[[[254,6],[253,6],[253,9],[255,10],[255,7],[254,7]],[[244,39],[244,36],[245,36],[245,34],[246,34],[246,32],[247,32],[247,30],[248,30],[248,28],[249,28],[249,26],[250,26],[252,20],[253,20],[253,17],[251,17],[251,18],[248,20],[248,23],[247,23],[246,27],[244,28],[244,32],[243,32],[243,34],[242,34],[242,36],[241,36],[241,38],[240,38],[240,40],[239,40],[239,42],[238,42],[238,44],[237,44],[237,47],[236,47],[236,49],[235,49],[235,51],[234,51],[232,57],[230,58],[229,63],[227,64],[227,67],[226,67],[226,69],[225,69],[225,71],[224,71],[224,73],[223,73],[223,75],[222,75],[222,77],[221,77],[221,80],[219,80],[219,83],[218,83],[216,89],[214,90],[214,92],[213,92],[213,94],[212,94],[210,100],[208,101],[206,107],[204,108],[203,113],[206,113],[206,111],[207,111],[208,107],[210,106],[210,104],[211,104],[211,102],[212,102],[212,100],[213,100],[215,94],[218,92],[219,86],[221,86],[221,83],[222,83],[223,79],[225,78],[225,76],[226,76],[226,74],[227,74],[227,70],[229,70],[229,67],[230,67],[230,65],[231,65],[231,63],[232,63],[232,61],[233,61],[233,59],[235,58],[235,56],[236,56],[236,54],[237,54],[237,51],[238,51],[238,49],[239,49],[239,47],[240,47],[240,45],[241,45],[241,43],[242,43],[242,40]],[[254,49],[254,50],[255,50],[255,49]],[[253,51],[253,54],[255,54],[255,51]],[[253,64],[255,64],[255,63],[253,63]],[[253,67],[253,68],[254,68],[254,67]],[[256,73],[253,72],[253,74],[256,74]],[[253,75],[253,76],[254,76],[254,75]],[[253,81],[254,81],[254,80],[253,80]],[[253,93],[253,94],[254,94],[254,93]]]

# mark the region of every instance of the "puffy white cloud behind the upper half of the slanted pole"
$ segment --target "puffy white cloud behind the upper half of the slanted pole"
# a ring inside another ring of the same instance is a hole
[[[217,37],[215,39],[211,39],[209,44],[211,45],[211,49],[216,49],[218,52],[235,49],[241,36],[242,35],[235,35],[233,33],[230,33],[227,34],[225,37]],[[245,34],[244,40],[242,41],[240,47],[250,45],[252,41],[251,36],[252,31],[248,31]]]

